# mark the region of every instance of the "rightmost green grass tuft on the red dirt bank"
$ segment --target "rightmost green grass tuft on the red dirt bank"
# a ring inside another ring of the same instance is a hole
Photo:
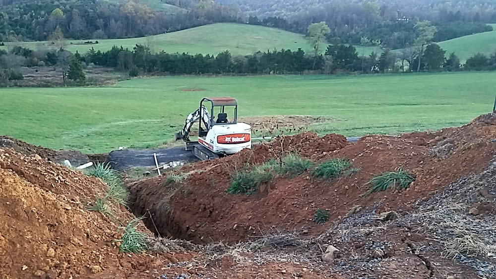
[[[385,191],[388,188],[403,190],[408,188],[413,181],[415,181],[415,177],[400,167],[395,171],[383,172],[379,176],[373,177],[368,183],[372,185],[371,188],[362,196]]]

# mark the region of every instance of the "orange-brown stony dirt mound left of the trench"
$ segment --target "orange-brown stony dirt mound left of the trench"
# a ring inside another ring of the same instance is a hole
[[[86,209],[106,190],[81,172],[0,149],[0,277],[102,278],[149,268],[114,242],[132,215],[117,205],[115,219]]]

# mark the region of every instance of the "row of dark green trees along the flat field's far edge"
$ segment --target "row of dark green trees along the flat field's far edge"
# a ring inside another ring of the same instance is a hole
[[[408,53],[408,50],[404,50]],[[72,54],[63,49],[33,51],[14,47],[10,52],[0,50],[0,84],[22,79],[21,66],[58,67],[63,83],[84,84],[84,68],[91,65],[113,67],[129,76],[147,74],[332,74],[343,72],[394,73],[417,71],[496,70],[496,53],[476,54],[462,64],[460,59],[439,45],[424,46],[422,54],[413,51],[408,56],[384,50],[382,53],[359,55],[352,45],[328,45],[325,53],[306,54],[302,49],[257,52],[248,56],[232,56],[229,51],[218,55],[153,53],[147,46],[133,49],[114,46],[101,52],[94,49],[85,54]]]

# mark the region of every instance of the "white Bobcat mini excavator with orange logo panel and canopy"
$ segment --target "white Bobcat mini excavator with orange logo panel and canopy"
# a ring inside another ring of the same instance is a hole
[[[206,104],[206,105],[205,105]],[[210,113],[207,107],[210,108]],[[228,111],[234,109],[229,121]],[[217,112],[217,119],[214,117]],[[198,141],[189,139],[189,131],[199,120]],[[189,113],[176,140],[186,142],[186,151],[192,151],[200,160],[212,160],[251,148],[251,127],[238,122],[238,101],[230,97],[203,98],[198,110]]]

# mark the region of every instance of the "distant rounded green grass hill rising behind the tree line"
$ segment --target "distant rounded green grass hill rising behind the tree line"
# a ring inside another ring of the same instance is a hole
[[[165,51],[168,53],[189,53],[189,54],[212,54],[229,50],[233,55],[248,55],[257,51],[302,48],[308,52],[311,48],[305,37],[301,34],[288,32],[276,28],[264,26],[236,24],[236,23],[216,23],[200,27],[190,28],[169,34],[150,36],[153,51]],[[146,38],[98,40],[96,45],[76,45],[84,41],[68,41],[67,50],[83,54],[89,49],[106,51],[113,46],[123,46],[132,49],[136,44],[145,44]],[[73,43],[70,45],[70,43]],[[8,43],[14,45],[13,43]],[[37,49],[48,48],[47,42],[21,42],[15,43],[25,48]],[[1,47],[0,47],[1,48]],[[322,44],[322,52],[326,45]],[[5,49],[5,47],[4,47]],[[374,47],[357,46],[359,54],[370,54],[377,52]]]

